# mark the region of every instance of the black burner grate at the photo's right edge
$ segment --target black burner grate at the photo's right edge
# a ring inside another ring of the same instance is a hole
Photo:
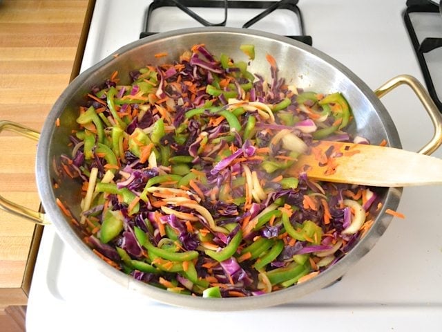
[[[412,19],[410,19],[410,14],[413,12],[439,13],[439,6],[433,1],[428,0],[408,0],[407,9],[403,13],[403,19],[408,34],[410,35],[414,50],[416,51],[416,56],[421,66],[425,84],[427,84],[428,92],[430,93],[439,111],[442,112],[442,102],[437,95],[432,75],[427,66],[427,62],[425,61],[425,53],[429,53],[436,48],[440,48],[442,46],[442,38],[426,37],[422,40],[422,42],[419,42],[419,38],[416,35],[416,30],[414,29],[414,26],[412,24]]]

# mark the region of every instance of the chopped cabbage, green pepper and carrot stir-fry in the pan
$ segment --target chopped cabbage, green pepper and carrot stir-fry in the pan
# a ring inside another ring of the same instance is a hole
[[[80,218],[58,203],[97,255],[168,291],[242,297],[305,282],[369,229],[374,190],[288,175],[314,140],[351,140],[349,104],[267,61],[269,80],[196,45],[90,91],[61,156],[83,185]]]

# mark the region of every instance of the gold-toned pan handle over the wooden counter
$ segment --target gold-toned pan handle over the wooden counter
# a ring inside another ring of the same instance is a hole
[[[11,122],[11,121],[0,121],[0,133],[1,131],[13,131],[21,136],[25,136],[32,140],[39,140],[40,133],[21,124]],[[0,208],[6,210],[12,214],[17,214],[23,218],[29,219],[30,221],[37,223],[38,225],[48,225],[49,222],[46,221],[45,214],[30,210],[22,205],[9,201],[0,195]]]

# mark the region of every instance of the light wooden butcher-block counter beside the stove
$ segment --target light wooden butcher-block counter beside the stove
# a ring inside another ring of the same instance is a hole
[[[73,73],[87,10],[88,0],[0,1],[0,120],[41,129]],[[5,131],[0,136],[0,194],[35,210],[39,208],[36,146],[15,133]],[[32,256],[37,252],[30,248],[32,239],[38,245],[41,229],[3,210],[0,225],[0,326],[4,328],[10,306],[26,305]]]

